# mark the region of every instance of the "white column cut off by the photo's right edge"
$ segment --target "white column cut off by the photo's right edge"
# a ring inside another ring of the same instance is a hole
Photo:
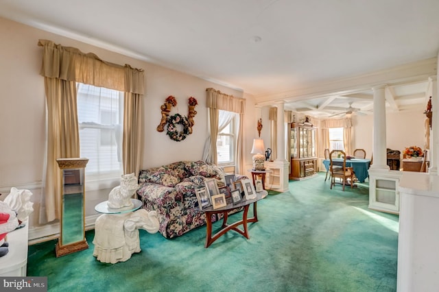
[[[432,121],[430,130],[430,153],[429,153],[429,173],[438,175],[438,154],[439,154],[439,94],[438,94],[438,78],[430,76],[431,84],[431,111]]]

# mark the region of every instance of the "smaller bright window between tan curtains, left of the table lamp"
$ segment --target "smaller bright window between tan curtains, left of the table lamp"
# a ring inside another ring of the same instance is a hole
[[[237,139],[237,114],[219,110],[219,132],[217,136],[218,165],[235,165]]]

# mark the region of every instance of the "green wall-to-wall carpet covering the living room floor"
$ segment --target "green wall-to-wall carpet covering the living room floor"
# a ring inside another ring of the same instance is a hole
[[[142,251],[111,265],[91,230],[88,250],[60,258],[56,241],[29,246],[27,275],[49,291],[396,291],[398,216],[367,208],[367,183],[330,190],[320,173],[289,191],[258,202],[249,240],[230,231],[205,249],[205,226],[171,240],[141,230]]]

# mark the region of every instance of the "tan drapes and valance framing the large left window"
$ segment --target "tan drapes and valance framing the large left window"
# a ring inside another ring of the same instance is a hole
[[[79,157],[78,111],[75,82],[120,90],[125,93],[123,123],[123,165],[125,173],[138,173],[141,131],[141,97],[145,73],[105,62],[93,53],[39,40],[43,47],[40,75],[45,77],[47,101],[47,160],[40,223],[59,219],[60,171],[56,158]]]

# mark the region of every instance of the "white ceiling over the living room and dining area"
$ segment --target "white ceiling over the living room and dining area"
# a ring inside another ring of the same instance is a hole
[[[300,102],[288,93],[436,58],[439,50],[438,0],[0,0],[0,16],[257,100],[281,95],[286,108],[315,117],[349,106],[368,113],[372,91]],[[425,106],[428,81],[407,82],[388,88],[390,110]]]

